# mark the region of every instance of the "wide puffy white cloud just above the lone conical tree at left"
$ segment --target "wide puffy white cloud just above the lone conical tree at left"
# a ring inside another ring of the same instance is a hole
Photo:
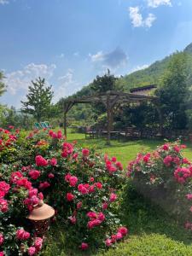
[[[27,90],[31,81],[42,77],[49,79],[52,77],[55,64],[34,64],[30,63],[23,67],[21,70],[17,70],[12,73],[5,73],[5,83],[8,85],[8,92],[11,95],[15,95],[19,90]]]

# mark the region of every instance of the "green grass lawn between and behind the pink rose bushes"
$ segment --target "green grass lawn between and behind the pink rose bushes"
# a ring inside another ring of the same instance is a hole
[[[112,141],[111,146],[106,146],[103,139],[84,139],[84,134],[68,133],[68,141],[76,140],[82,147],[94,147],[98,151],[117,156],[126,166],[139,151],[151,151],[163,141],[137,140],[129,142]],[[192,160],[192,145],[187,143],[184,155]],[[119,204],[121,223],[130,230],[127,241],[119,243],[115,249],[93,251],[85,255],[112,256],[190,256],[192,255],[192,236],[189,231],[183,229],[183,225],[177,223],[171,216],[167,216],[159,207],[138,195],[137,191],[127,181],[122,191],[122,199]],[[70,241],[65,240],[65,232],[61,224],[52,226],[48,246],[44,255],[81,255],[74,251]]]

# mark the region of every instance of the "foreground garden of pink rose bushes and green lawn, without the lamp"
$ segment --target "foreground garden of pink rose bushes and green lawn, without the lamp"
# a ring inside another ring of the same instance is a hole
[[[191,255],[190,144],[0,132],[1,255]],[[27,216],[43,201],[39,234]]]

